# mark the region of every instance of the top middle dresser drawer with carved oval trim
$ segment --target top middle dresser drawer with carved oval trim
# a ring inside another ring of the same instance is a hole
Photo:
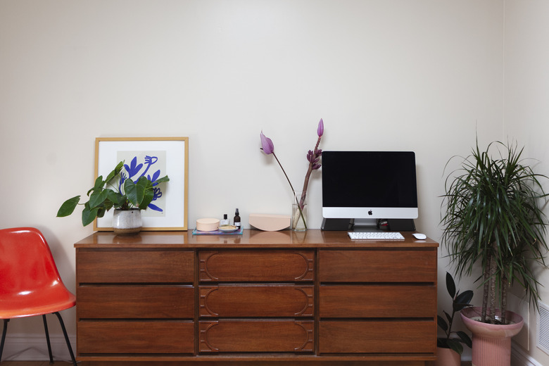
[[[201,251],[202,282],[301,282],[315,278],[314,251]]]

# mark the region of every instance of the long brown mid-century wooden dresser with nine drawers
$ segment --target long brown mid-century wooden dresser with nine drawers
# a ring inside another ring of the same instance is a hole
[[[77,359],[424,365],[438,244],[403,234],[97,232],[75,244]]]

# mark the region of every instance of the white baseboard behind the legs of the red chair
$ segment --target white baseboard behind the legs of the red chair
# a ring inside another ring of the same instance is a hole
[[[53,360],[70,361],[70,353],[63,335],[50,334]],[[75,353],[76,336],[69,336],[72,352]],[[48,343],[46,335],[9,334],[4,343],[2,361],[47,361]]]

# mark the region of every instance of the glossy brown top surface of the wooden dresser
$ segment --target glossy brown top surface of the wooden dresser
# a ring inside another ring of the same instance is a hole
[[[75,248],[169,247],[169,248],[436,248],[432,239],[417,240],[412,232],[401,232],[404,240],[351,240],[347,232],[263,232],[245,229],[243,234],[193,235],[189,232],[140,232],[137,235],[115,235],[95,232],[78,241]]]

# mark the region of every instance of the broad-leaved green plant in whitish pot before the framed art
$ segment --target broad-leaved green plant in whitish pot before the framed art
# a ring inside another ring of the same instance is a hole
[[[136,160],[134,158],[134,160]],[[129,170],[137,164],[132,160],[131,166],[123,161],[107,175],[105,179],[100,175],[96,178],[94,187],[87,191],[88,201],[80,203],[80,196],[74,196],[65,201],[57,212],[58,217],[71,215],[77,205],[84,206],[82,210],[82,225],[91,224],[96,217],[103,217],[111,208],[115,209],[113,229],[117,234],[132,234],[141,229],[141,210],[145,210],[158,193],[158,184],[169,182],[168,175],[158,177],[160,170],[153,177],[141,175],[135,181],[130,179]],[[118,213],[132,213],[123,217]],[[131,223],[130,223],[131,222]],[[139,225],[139,226],[137,226]]]

